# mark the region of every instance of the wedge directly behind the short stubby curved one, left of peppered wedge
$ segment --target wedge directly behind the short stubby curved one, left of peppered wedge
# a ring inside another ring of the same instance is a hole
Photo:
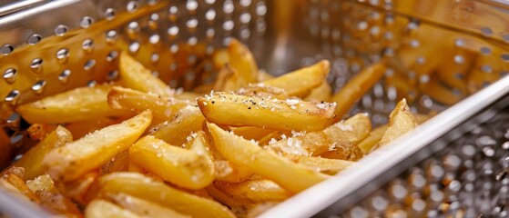
[[[168,144],[180,145],[187,140],[183,135],[199,132],[204,122],[205,117],[197,106],[186,106],[178,110],[173,120],[154,127],[150,134]]]

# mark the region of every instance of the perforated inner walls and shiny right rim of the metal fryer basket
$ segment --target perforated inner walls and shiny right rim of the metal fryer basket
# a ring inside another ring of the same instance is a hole
[[[386,123],[387,114],[403,96],[412,102],[412,110],[422,113],[443,111],[454,104],[415,131],[421,134],[407,135],[406,140],[398,141],[402,143],[370,155],[358,167],[281,203],[266,213],[267,217],[309,216],[351,193],[359,193],[360,198],[367,194],[358,191],[362,184],[470,119],[504,96],[509,87],[507,80],[489,85],[507,73],[509,60],[506,6],[497,1],[32,2],[33,7],[4,10],[0,18],[4,35],[0,38],[0,72],[4,78],[0,80],[0,96],[5,96],[1,115],[14,146],[24,140],[23,124],[11,110],[15,104],[115,80],[120,50],[128,50],[172,86],[189,89],[213,78],[208,63],[201,60],[225,45],[229,37],[249,45],[260,66],[271,74],[330,59],[330,79],[336,88],[363,66],[389,60],[391,67],[385,78],[351,111],[370,112],[374,124]],[[449,49],[443,49],[444,45]],[[475,63],[469,64],[473,52]],[[438,59],[438,65],[453,65],[451,76],[457,81],[429,74],[442,70],[427,67],[436,61],[433,59]],[[467,71],[474,72],[474,79]],[[474,94],[483,87],[483,92]],[[471,94],[471,98],[455,104]],[[399,153],[402,149],[405,152]],[[398,168],[408,168],[425,157],[402,162]],[[369,171],[369,167],[374,169]],[[310,196],[317,199],[316,203],[300,201]],[[10,200],[0,198],[0,202],[5,201]],[[26,214],[12,207],[2,210]]]

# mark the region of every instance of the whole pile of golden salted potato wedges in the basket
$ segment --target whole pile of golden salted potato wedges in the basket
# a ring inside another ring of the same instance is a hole
[[[404,99],[374,129],[344,117],[384,64],[331,94],[326,60],[273,77],[236,40],[212,57],[218,78],[196,92],[122,53],[119,81],[18,106],[38,144],[0,188],[69,217],[252,217],[426,119]]]

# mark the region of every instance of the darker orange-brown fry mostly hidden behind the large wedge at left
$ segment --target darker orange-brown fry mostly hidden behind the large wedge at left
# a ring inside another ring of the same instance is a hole
[[[66,129],[73,134],[73,138],[79,139],[85,136],[86,134],[90,134],[97,130],[100,130],[108,125],[118,124],[122,122],[123,118],[111,118],[107,117],[104,119],[97,120],[86,120],[80,122],[74,122],[70,124],[66,124]]]

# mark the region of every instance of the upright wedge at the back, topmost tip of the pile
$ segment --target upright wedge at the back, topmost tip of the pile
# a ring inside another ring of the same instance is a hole
[[[227,48],[229,64],[237,72],[245,83],[256,83],[258,65],[246,45],[242,45],[237,39],[232,39]]]

